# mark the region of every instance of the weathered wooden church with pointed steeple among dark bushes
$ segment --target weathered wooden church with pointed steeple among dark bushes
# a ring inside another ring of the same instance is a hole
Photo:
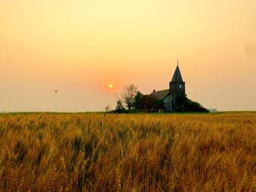
[[[184,108],[184,106],[180,106],[181,103],[178,102],[178,100],[182,100],[186,96],[185,82],[181,77],[178,61],[176,70],[173,74],[173,79],[169,82],[169,88],[161,91],[154,90],[152,93],[150,93],[150,96],[162,101],[163,110],[165,112],[172,112],[176,110],[176,107]]]

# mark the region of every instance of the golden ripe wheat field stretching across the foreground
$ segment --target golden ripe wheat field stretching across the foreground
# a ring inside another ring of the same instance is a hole
[[[0,116],[0,191],[256,191],[256,113]]]

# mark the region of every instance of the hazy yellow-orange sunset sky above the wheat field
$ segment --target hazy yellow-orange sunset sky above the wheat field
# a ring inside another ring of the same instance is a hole
[[[256,110],[255,10],[255,0],[2,0],[0,111],[104,110],[128,83],[168,88],[177,58],[189,99]]]

